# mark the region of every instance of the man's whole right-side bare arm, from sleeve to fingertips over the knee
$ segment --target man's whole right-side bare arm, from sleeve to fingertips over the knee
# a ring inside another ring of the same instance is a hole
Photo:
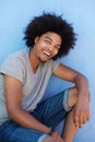
[[[78,128],[81,128],[90,119],[90,91],[87,79],[78,71],[61,63],[54,74],[75,84],[78,90],[78,102],[73,108],[73,121]]]

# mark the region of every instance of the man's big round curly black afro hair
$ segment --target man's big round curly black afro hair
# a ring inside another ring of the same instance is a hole
[[[24,39],[29,49],[34,46],[36,36],[41,36],[47,32],[54,32],[61,36],[62,44],[57,56],[52,59],[61,58],[69,54],[70,49],[75,45],[75,33],[72,24],[62,19],[62,15],[55,13],[43,13],[43,15],[35,16],[26,26]]]

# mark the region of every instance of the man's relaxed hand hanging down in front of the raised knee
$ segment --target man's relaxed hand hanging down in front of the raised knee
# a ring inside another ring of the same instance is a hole
[[[81,96],[74,107],[73,121],[76,128],[81,128],[90,120],[90,100],[86,96]]]

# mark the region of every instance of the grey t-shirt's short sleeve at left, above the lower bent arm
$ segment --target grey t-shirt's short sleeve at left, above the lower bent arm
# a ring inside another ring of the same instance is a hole
[[[0,72],[17,79],[22,83],[24,81],[24,64],[16,54],[7,58],[0,68]]]

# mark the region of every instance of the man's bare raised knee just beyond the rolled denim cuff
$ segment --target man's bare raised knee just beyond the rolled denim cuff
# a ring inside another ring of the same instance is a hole
[[[76,100],[78,100],[78,90],[76,87],[71,87],[69,91],[68,106],[73,107],[76,104]]]

